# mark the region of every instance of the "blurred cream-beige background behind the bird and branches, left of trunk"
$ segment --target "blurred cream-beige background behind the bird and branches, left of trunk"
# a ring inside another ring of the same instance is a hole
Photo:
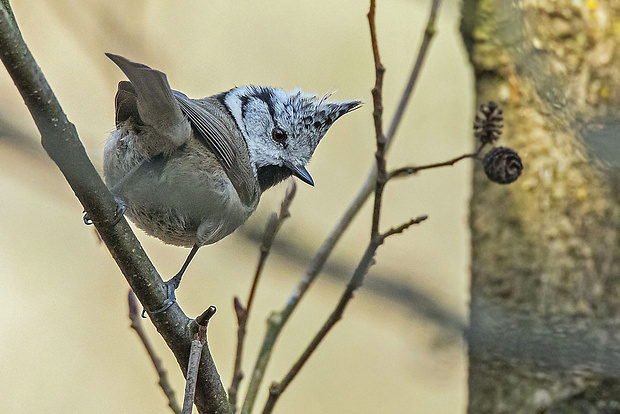
[[[122,73],[104,52],[167,73],[173,88],[203,97],[244,84],[301,87],[366,105],[339,120],[308,166],[316,186],[298,195],[258,289],[244,371],[254,364],[265,319],[279,309],[373,163],[374,67],[368,2],[14,0],[23,36],[101,171],[114,128]],[[429,3],[382,0],[377,8],[387,68],[386,124],[417,53]],[[473,95],[455,2],[443,5],[430,55],[397,134],[388,166],[443,161],[471,149]],[[167,413],[157,376],[127,318],[128,286],[82,222],[82,208],[46,157],[23,101],[0,70],[0,412]],[[367,284],[280,399],[279,413],[457,413],[466,407],[462,341],[443,317],[465,319],[468,287],[469,162],[390,183],[383,228],[428,214],[391,238]],[[226,387],[236,340],[232,298],[245,302],[259,234],[286,185],[267,192],[244,228],[201,249],[178,291],[189,316],[218,312],[209,344]],[[370,205],[338,244],[277,344],[266,389],[288,371],[322,325],[361,257]],[[137,230],[159,272],[173,275],[188,251]],[[254,235],[254,236],[253,236]],[[179,399],[184,380],[145,320]],[[245,393],[247,381],[241,385]]]

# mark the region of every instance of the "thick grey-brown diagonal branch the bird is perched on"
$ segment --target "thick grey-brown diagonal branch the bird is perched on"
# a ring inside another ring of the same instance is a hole
[[[8,1],[0,3],[0,58],[41,133],[45,151],[65,176],[93,220],[112,257],[145,309],[158,309],[166,299],[161,277],[126,220],[114,225],[116,202],[95,170],[56,96],[26,46]],[[191,338],[197,331],[177,305],[152,317],[183,372],[187,369]],[[203,348],[199,371],[201,386],[196,405],[201,413],[228,413],[228,399],[208,347]]]

